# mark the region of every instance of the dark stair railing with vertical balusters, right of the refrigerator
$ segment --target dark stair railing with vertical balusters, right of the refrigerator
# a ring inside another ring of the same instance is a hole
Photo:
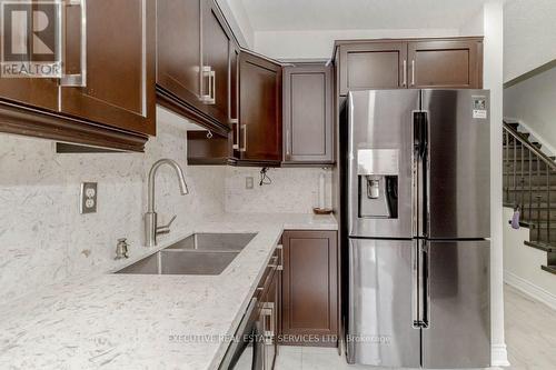
[[[520,153],[518,154],[518,151]],[[540,164],[545,166],[542,167]],[[556,162],[539,148],[532,144],[514,127],[504,122],[504,204],[519,207],[522,219],[536,228],[537,242],[545,237],[540,233],[543,224],[543,192],[546,184],[546,238],[550,243],[550,177],[556,178]],[[519,167],[520,171],[517,170]],[[556,182],[555,182],[556,183]],[[535,191],[536,190],[536,191]],[[534,192],[536,193],[534,196]],[[525,203],[528,202],[528,207]],[[536,206],[536,212],[533,211]],[[544,228],[543,228],[544,229]]]

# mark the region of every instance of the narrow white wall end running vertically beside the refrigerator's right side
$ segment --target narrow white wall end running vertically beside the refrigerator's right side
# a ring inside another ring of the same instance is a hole
[[[504,8],[502,0],[484,6],[484,87],[490,90],[490,324],[493,366],[507,366],[504,336],[504,267],[503,267],[503,48]]]

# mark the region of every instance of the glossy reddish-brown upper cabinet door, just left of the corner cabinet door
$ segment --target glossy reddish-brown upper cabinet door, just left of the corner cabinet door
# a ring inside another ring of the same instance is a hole
[[[281,67],[240,53],[240,151],[242,160],[281,161]]]

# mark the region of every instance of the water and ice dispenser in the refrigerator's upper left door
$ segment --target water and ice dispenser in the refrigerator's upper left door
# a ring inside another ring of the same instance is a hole
[[[399,151],[397,149],[359,149],[359,218],[398,218]]]

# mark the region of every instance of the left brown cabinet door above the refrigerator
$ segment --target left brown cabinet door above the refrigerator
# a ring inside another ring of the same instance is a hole
[[[407,43],[364,42],[340,46],[340,94],[350,90],[407,87]]]

